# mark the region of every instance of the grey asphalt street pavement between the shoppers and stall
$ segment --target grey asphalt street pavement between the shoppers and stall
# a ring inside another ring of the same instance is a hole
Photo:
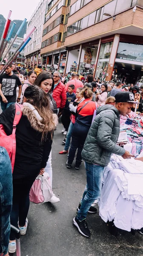
[[[67,169],[67,155],[58,154],[63,150],[62,129],[60,123],[52,145],[52,189],[59,196],[60,202],[30,204],[29,226],[26,235],[21,237],[21,255],[143,256],[143,236],[137,232],[133,236],[121,230],[117,238],[114,238],[100,218],[99,211],[87,217],[92,233],[90,239],[81,236],[74,227],[73,218],[86,185],[86,171],[84,163],[78,171],[74,169],[74,164],[72,169]]]

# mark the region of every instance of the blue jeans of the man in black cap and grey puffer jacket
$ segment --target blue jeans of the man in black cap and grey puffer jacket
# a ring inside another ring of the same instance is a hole
[[[82,221],[86,218],[93,202],[100,198],[104,167],[85,162],[87,184],[81,200],[81,207],[77,219]]]

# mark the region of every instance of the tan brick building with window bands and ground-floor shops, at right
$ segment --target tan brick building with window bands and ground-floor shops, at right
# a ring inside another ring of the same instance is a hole
[[[100,80],[143,76],[143,0],[51,0],[42,64]]]

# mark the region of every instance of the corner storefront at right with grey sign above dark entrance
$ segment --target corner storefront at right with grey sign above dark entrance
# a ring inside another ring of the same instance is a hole
[[[127,83],[140,81],[143,76],[143,45],[119,43],[113,76]]]

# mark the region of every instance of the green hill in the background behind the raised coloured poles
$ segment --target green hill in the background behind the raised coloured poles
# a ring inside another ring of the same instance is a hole
[[[16,35],[16,32],[19,29],[23,20],[11,20],[9,30],[11,29],[11,26],[12,26],[13,22],[15,22],[16,25],[15,25],[15,28],[14,28],[14,31],[12,33],[11,38],[14,38],[14,36]],[[5,23],[6,23],[5,17],[3,17],[3,15],[0,14],[0,38],[3,34],[3,29],[4,29],[4,26],[5,26]],[[25,26],[23,27],[23,29],[21,30],[20,34],[18,35],[20,38],[23,38],[24,34],[26,33],[26,27],[27,27],[27,22],[26,22]]]

